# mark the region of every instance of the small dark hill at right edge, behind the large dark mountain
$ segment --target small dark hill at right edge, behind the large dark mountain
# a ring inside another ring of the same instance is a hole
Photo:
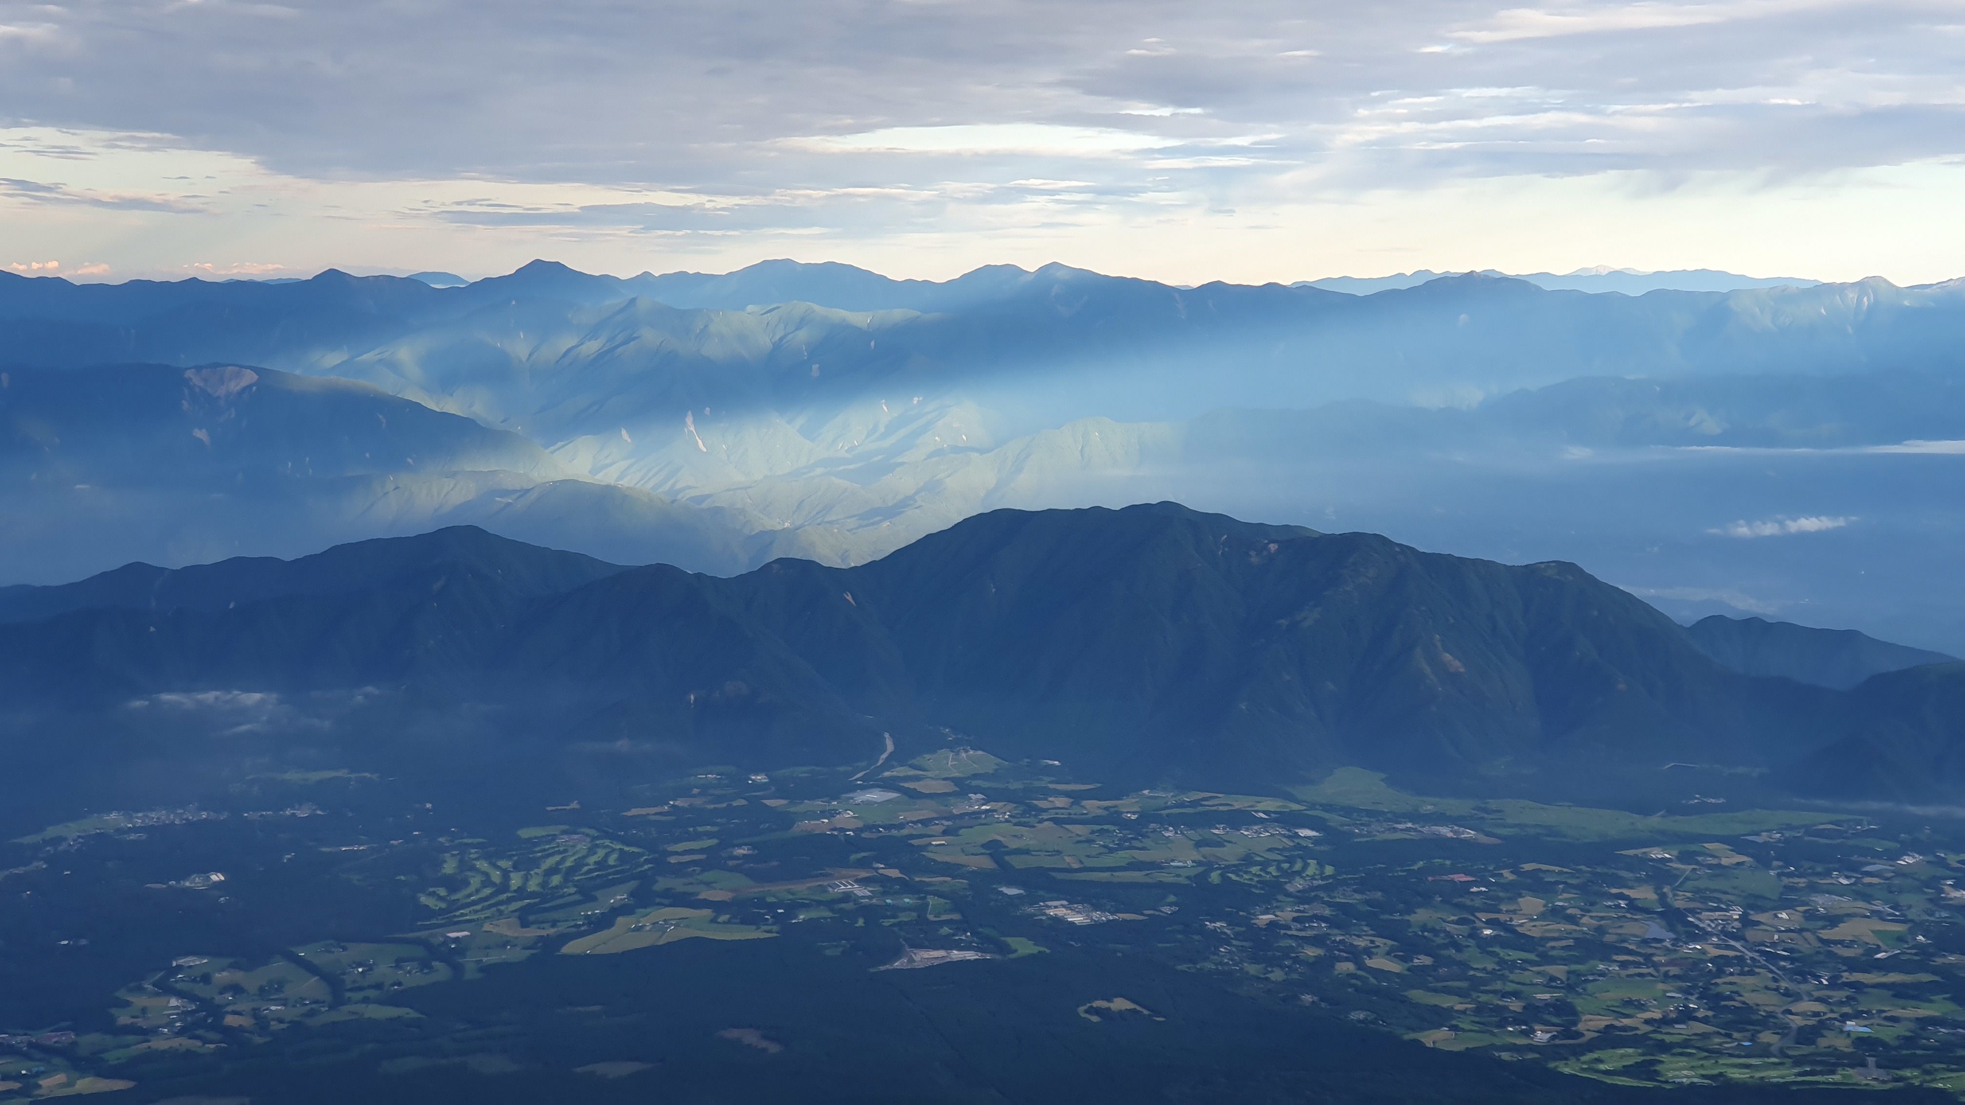
[[[1814,629],[1763,617],[1713,613],[1688,625],[1686,635],[1698,651],[1733,670],[1843,690],[1873,674],[1957,663],[1957,657],[1892,645],[1855,629]]]

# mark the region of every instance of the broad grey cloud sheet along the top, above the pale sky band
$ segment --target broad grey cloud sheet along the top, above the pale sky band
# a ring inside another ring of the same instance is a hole
[[[1081,157],[1258,132],[1330,151],[1391,102],[1429,130],[1482,124],[1527,138],[1531,147],[1511,153],[1535,171],[1596,171],[1603,157],[1586,144],[1601,136],[1550,134],[1550,120],[1735,104],[1727,118],[1658,120],[1623,151],[1625,165],[1668,157],[1686,169],[1784,149],[1786,136],[1761,134],[1772,120],[1808,138],[1859,132],[1890,110],[1959,106],[1955,8],[1902,0],[1582,0],[1478,14],[1464,0],[1315,14],[1283,0],[656,0],[631,10],[570,0],[550,18],[519,0],[314,0],[279,12],[0,0],[0,26],[69,43],[0,45],[10,51],[0,94],[14,118],[171,134],[309,177],[707,189],[762,167],[780,183],[839,183],[825,163],[786,157],[794,151]],[[1568,41],[1580,35],[1588,49]],[[1438,43],[1460,49],[1423,53]],[[1541,108],[1491,94],[1517,88]],[[1881,151],[1798,145],[1812,165],[1837,167],[1932,142],[1916,128],[1886,130]],[[1277,149],[1277,163],[1293,159]],[[1495,165],[1464,155],[1379,165],[1415,169]]]

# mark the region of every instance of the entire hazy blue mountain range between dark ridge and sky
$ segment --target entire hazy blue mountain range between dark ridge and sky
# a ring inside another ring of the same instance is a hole
[[[1965,592],[1930,584],[1965,531],[1955,281],[422,275],[0,273],[0,582],[458,523],[849,566],[988,509],[1181,499],[1965,653]]]

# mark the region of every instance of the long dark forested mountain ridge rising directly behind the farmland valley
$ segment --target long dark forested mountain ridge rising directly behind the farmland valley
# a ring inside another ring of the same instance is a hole
[[[145,588],[165,598],[149,606]],[[1894,710],[1877,680],[1851,696],[1729,670],[1570,564],[1171,503],[994,511],[859,568],[615,570],[454,529],[6,602],[16,617],[65,610],[0,625],[16,704],[391,686],[544,710],[558,739],[755,765],[953,731],[1144,781],[1362,765],[1562,792],[1670,761],[1786,771],[1879,724],[1898,745],[1957,735],[1943,710]]]

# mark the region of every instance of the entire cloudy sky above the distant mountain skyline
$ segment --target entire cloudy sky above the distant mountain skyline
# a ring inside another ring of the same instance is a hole
[[[0,0],[0,267],[1965,275],[1965,4]]]

